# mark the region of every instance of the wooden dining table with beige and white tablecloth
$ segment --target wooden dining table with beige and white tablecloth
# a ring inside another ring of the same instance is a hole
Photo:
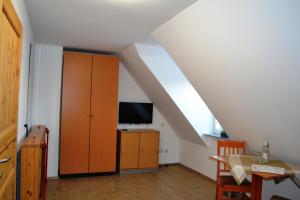
[[[281,160],[270,160],[267,163],[261,163],[255,155],[227,155],[210,156],[211,160],[223,163],[229,167],[230,174],[235,178],[238,184],[246,179],[248,176],[252,176],[251,184],[251,200],[262,199],[262,186],[263,180],[273,180],[276,184],[290,178],[300,189],[300,166],[295,164],[289,164]],[[266,165],[275,168],[284,168],[284,174],[267,173],[253,171],[252,165]]]

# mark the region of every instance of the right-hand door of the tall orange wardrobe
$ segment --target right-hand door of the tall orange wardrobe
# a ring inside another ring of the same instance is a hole
[[[116,170],[119,59],[94,55],[92,70],[90,172]]]

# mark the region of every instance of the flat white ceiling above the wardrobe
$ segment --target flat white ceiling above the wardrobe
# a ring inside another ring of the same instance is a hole
[[[120,52],[196,0],[25,0],[35,42]]]

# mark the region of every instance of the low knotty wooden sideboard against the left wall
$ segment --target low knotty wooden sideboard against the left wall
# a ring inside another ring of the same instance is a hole
[[[48,129],[35,126],[21,147],[21,200],[45,199]]]

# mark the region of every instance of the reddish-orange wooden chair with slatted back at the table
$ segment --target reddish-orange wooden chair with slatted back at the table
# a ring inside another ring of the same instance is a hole
[[[222,140],[218,141],[218,155],[234,155],[245,154],[246,142]],[[230,170],[224,163],[217,163],[217,200],[222,200],[224,192],[240,192],[245,199],[245,193],[251,193],[251,182],[244,180],[241,185],[238,185],[233,176],[229,174]],[[226,175],[224,175],[226,174]]]

